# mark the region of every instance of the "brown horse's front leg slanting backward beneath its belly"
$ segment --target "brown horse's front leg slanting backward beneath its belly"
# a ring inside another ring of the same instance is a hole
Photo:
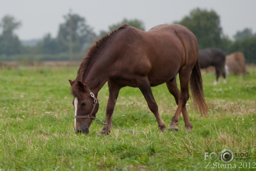
[[[165,131],[166,126],[158,112],[158,106],[156,104],[155,98],[153,96],[151,86],[147,77],[142,77],[137,79],[137,86],[142,92],[146,102],[148,103],[148,107],[151,112],[155,115],[156,121],[158,123],[158,127],[160,128],[161,132]]]

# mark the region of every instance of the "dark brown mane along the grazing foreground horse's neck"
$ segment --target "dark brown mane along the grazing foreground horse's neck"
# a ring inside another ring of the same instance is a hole
[[[110,34],[107,34],[105,36],[103,36],[101,39],[99,39],[98,41],[95,41],[95,45],[92,45],[86,55],[86,57],[84,57],[78,71],[77,71],[77,78],[76,80],[83,80],[83,76],[84,74],[87,72],[87,69],[89,68],[89,65],[91,64],[91,61],[93,59],[93,57],[95,56],[95,54],[98,52],[98,50],[103,46],[103,44],[106,43],[106,41],[113,36],[113,34],[115,34],[118,30],[125,28],[126,26],[129,26],[127,24],[124,24],[122,26],[120,26],[118,29],[112,31]]]

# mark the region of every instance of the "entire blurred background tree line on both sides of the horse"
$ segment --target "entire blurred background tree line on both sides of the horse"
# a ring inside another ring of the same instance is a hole
[[[56,38],[50,33],[43,36],[37,45],[25,46],[14,34],[21,26],[13,16],[6,15],[0,23],[0,61],[1,60],[81,60],[88,47],[122,24],[128,24],[138,29],[145,30],[143,21],[123,19],[121,22],[108,26],[98,35],[86,23],[86,19],[78,14],[64,15],[64,23],[59,24]],[[256,63],[256,33],[251,29],[237,31],[231,40],[222,32],[220,17],[214,10],[196,8],[188,16],[174,24],[181,24],[192,31],[198,40],[199,49],[218,47],[226,54],[243,52],[247,63]]]

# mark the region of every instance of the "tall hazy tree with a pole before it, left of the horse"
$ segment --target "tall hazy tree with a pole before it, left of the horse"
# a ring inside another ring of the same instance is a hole
[[[81,51],[93,41],[93,30],[86,24],[85,18],[78,14],[68,14],[64,16],[64,19],[65,22],[60,24],[57,36],[60,52],[68,52],[70,39],[72,39],[72,49],[74,52]],[[70,30],[72,30],[72,35]]]

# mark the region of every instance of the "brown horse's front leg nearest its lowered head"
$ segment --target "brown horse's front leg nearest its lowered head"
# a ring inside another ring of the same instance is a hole
[[[111,132],[111,124],[112,124],[112,114],[115,109],[116,99],[118,97],[119,91],[121,87],[117,86],[115,83],[111,82],[110,80],[107,82],[108,84],[108,102],[107,102],[107,108],[106,108],[106,119],[105,119],[105,125],[100,132],[102,135],[107,135]]]

